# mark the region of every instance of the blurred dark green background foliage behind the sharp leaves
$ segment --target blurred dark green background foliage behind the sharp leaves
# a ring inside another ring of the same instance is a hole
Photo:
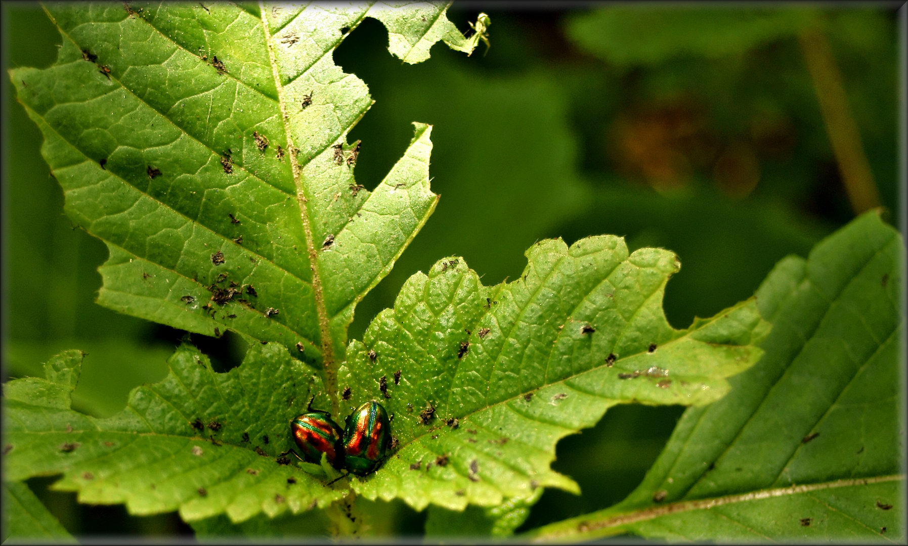
[[[479,9],[453,5],[460,29]],[[35,4],[3,5],[5,66],[54,63],[60,36]],[[678,8],[491,11],[470,57],[444,45],[417,65],[388,54],[367,19],[334,54],[376,101],[350,132],[356,176],[374,187],[400,158],[410,122],[434,124],[432,188],[439,207],[390,276],[357,309],[360,337],[403,281],[463,256],[486,284],[516,278],[534,241],[627,237],[631,249],[674,250],[666,290],[675,327],[745,299],[787,254],[854,218],[798,34],[821,29],[842,73],[881,204],[899,218],[896,18],[847,9]],[[40,374],[65,348],[88,353],[74,405],[99,416],[166,373],[181,332],[94,304],[104,245],[64,216],[40,155],[42,138],[4,82],[3,358],[5,378]],[[219,366],[240,356],[232,336],[192,336]],[[556,470],[583,494],[543,494],[523,529],[605,508],[643,478],[683,412],[624,406],[558,444]],[[175,514],[136,518],[122,506],[79,505],[33,490],[76,534],[191,533]],[[395,507],[399,532],[424,514]],[[404,513],[408,512],[409,513]]]

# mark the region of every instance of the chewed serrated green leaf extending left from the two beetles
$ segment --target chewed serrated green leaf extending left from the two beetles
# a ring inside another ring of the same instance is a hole
[[[133,390],[106,419],[70,409],[82,357],[65,352],[44,366],[46,379],[5,384],[7,480],[63,473],[54,489],[77,491],[80,502],[125,502],[136,515],[179,510],[187,522],[304,512],[347,493],[281,458],[293,416],[312,396],[322,407],[328,398],[320,375],[280,344],[253,343],[224,374],[183,344],[163,382]]]

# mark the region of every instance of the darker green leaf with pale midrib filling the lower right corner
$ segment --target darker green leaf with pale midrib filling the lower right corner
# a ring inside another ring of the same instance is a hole
[[[785,258],[775,327],[733,395],[691,408],[624,502],[532,533],[687,541],[904,541],[903,239],[876,212]]]

